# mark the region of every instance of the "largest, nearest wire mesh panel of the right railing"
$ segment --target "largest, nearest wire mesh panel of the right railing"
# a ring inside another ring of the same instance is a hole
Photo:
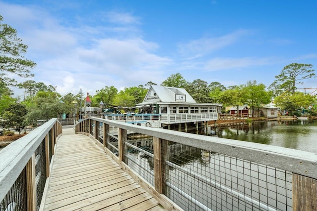
[[[292,210],[292,174],[169,142],[165,195],[184,210]]]

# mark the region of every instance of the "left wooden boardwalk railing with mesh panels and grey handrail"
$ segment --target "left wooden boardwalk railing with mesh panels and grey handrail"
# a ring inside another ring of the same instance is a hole
[[[51,119],[0,151],[0,211],[39,210],[61,132]]]

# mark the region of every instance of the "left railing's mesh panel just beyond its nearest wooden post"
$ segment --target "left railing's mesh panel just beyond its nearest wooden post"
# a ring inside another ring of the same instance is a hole
[[[36,207],[39,210],[46,182],[45,141],[35,151]]]

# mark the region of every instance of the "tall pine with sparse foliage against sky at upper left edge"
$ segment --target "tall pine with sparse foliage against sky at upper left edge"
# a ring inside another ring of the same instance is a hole
[[[8,85],[16,85],[15,79],[9,78],[8,74],[28,78],[34,75],[30,69],[36,64],[25,59],[22,54],[27,52],[28,46],[17,37],[16,30],[7,24],[2,24],[3,17],[0,15],[0,81]]]

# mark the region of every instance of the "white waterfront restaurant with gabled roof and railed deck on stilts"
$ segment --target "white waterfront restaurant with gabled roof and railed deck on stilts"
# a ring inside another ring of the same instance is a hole
[[[184,88],[152,85],[143,102],[136,106],[141,114],[159,114],[157,127],[164,127],[217,120],[222,105],[197,103]]]

